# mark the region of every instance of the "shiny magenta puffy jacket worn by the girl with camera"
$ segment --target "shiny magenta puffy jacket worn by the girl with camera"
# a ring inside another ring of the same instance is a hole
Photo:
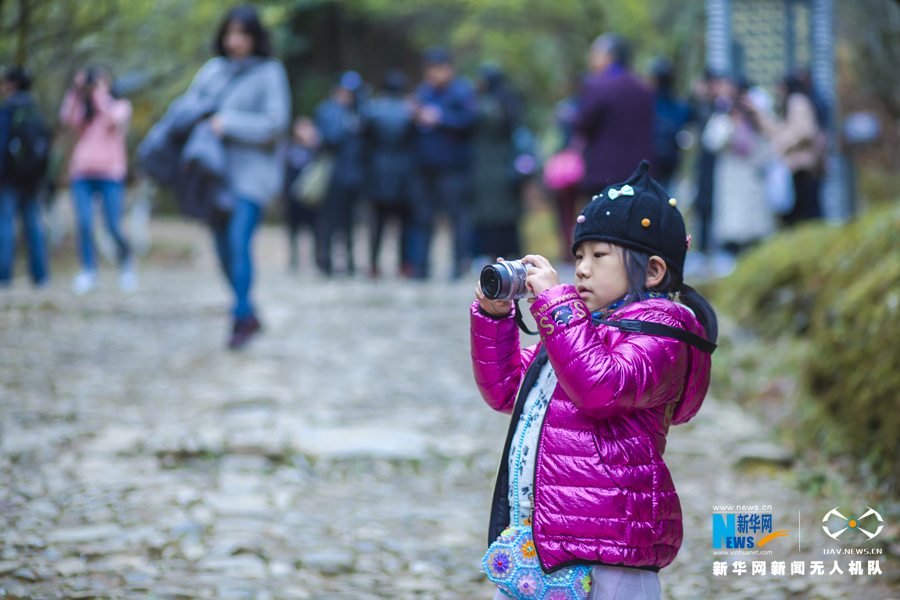
[[[541,343],[523,349],[512,314],[498,319],[477,302],[471,307],[478,389],[491,408],[515,413],[494,489],[489,542],[509,525],[507,455],[527,396],[523,390],[517,402],[517,390],[535,357],[546,352],[559,382],[535,467],[533,534],[544,572],[573,564],[658,571],[675,559],[682,538],[681,505],[662,459],[666,433],[670,423],[685,423],[700,409],[711,357],[674,339],[594,325],[572,285],[546,290],[531,312]],[[607,318],[652,321],[706,337],[691,311],[664,299],[636,302]]]

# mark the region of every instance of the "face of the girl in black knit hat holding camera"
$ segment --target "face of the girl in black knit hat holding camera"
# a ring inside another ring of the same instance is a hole
[[[622,248],[586,241],[575,252],[575,287],[591,312],[628,292],[628,273]]]

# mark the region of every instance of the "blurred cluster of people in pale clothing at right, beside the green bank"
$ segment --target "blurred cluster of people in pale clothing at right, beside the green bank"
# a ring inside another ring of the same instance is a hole
[[[822,217],[828,109],[809,74],[779,82],[777,99],[745,78],[707,74],[694,86],[700,133],[695,268],[733,270],[740,253],[776,231]]]

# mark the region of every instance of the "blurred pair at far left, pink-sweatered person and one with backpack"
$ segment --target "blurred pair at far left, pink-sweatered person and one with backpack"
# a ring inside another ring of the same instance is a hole
[[[112,79],[101,68],[82,69],[74,77],[59,113],[63,127],[75,133],[68,165],[68,180],[79,232],[81,270],[72,289],[84,294],[97,285],[94,246],[94,199],[101,200],[103,216],[114,241],[120,265],[119,285],[137,286],[134,254],[122,228],[128,155],[125,136],[131,103],[111,93]],[[31,93],[31,76],[23,67],[0,76],[0,286],[8,286],[15,264],[17,214],[28,248],[31,278],[38,287],[50,278],[41,198],[52,197],[53,131]]]

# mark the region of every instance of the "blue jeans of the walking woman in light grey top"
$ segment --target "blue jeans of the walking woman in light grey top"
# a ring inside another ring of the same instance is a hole
[[[253,257],[250,245],[259,223],[259,206],[238,198],[227,222],[213,226],[219,264],[234,291],[234,318],[243,320],[254,314],[250,304],[250,285],[253,283]]]

